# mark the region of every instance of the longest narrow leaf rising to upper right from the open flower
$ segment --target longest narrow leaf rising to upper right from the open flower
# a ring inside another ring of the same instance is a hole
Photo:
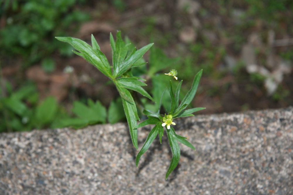
[[[178,108],[176,108],[176,110],[174,111],[174,115],[178,115],[181,111],[183,111],[186,108],[186,106],[188,106],[188,104],[190,104],[190,102],[192,101],[192,99],[195,96],[195,93],[197,91],[197,87],[198,87],[198,84],[200,82],[201,75],[202,75],[202,70],[200,70],[195,75],[191,89],[188,91],[186,96],[183,98],[183,100],[181,101],[181,103],[178,106]]]

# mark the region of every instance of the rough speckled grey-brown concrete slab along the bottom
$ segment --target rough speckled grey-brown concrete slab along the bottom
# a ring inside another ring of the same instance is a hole
[[[0,194],[293,194],[293,107],[176,119],[135,166],[127,124],[0,135]],[[139,129],[141,148],[150,127]]]

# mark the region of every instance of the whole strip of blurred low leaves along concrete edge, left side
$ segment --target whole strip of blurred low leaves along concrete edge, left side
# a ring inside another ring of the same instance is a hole
[[[88,99],[87,104],[75,101],[72,113],[77,117],[72,117],[54,97],[47,97],[39,101],[39,94],[33,83],[28,83],[13,91],[11,84],[6,82],[6,86],[0,90],[0,132],[29,131],[47,127],[81,128],[96,123],[105,123],[106,108],[99,101],[94,102],[91,99]],[[113,112],[113,108],[110,113],[112,118],[119,114],[119,112]],[[118,118],[118,120],[120,119]],[[111,122],[113,122],[112,119]]]

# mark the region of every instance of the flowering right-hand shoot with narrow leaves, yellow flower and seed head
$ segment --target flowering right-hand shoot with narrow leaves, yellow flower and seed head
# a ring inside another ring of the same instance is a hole
[[[171,70],[170,72],[172,72],[172,71],[174,72],[175,70]],[[175,74],[170,74],[170,75],[175,78],[177,75],[177,72],[176,72],[176,75]],[[193,97],[195,96],[198,84],[200,82],[201,75],[202,75],[202,70],[200,70],[195,75],[191,89],[185,95],[185,97],[183,98],[183,100],[181,101],[180,104],[179,104],[179,93],[180,93],[182,80],[180,81],[180,83],[178,84],[178,86],[176,88],[175,95],[174,95],[173,88],[172,88],[172,82],[170,80],[169,92],[170,92],[170,96],[171,96],[171,110],[169,111],[168,114],[161,116],[159,114],[160,110],[158,110],[157,113],[152,113],[147,110],[143,111],[143,113],[148,116],[148,119],[145,120],[144,122],[141,122],[139,125],[137,125],[137,128],[143,127],[143,126],[149,125],[149,124],[155,124],[155,126],[149,132],[149,135],[147,136],[147,139],[144,142],[142,149],[137,154],[137,157],[135,160],[136,166],[138,166],[140,157],[147,151],[147,149],[149,149],[149,146],[151,145],[151,143],[154,141],[154,139],[157,137],[158,134],[159,134],[160,143],[162,143],[162,136],[164,133],[163,127],[166,127],[166,132],[167,132],[169,144],[171,147],[171,151],[173,153],[170,166],[169,166],[167,173],[166,173],[166,179],[168,178],[170,173],[177,167],[178,162],[179,162],[180,148],[178,145],[178,141],[181,142],[182,144],[190,147],[191,149],[195,150],[193,145],[190,144],[190,142],[186,140],[187,139],[186,137],[182,137],[182,136],[176,134],[174,128],[171,125],[176,125],[176,123],[173,122],[173,120],[176,118],[194,116],[192,113],[205,109],[205,108],[200,107],[200,108],[191,108],[191,109],[184,110],[190,104]],[[177,77],[175,79],[177,80]],[[161,104],[161,102],[160,102],[160,104]],[[159,106],[159,107],[161,107],[161,106]]]

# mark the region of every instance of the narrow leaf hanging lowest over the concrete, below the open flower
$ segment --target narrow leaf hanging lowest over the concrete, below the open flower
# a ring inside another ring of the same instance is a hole
[[[176,134],[175,134],[173,127],[171,127],[170,130],[167,130],[167,135],[168,135],[168,140],[169,140],[169,144],[170,144],[173,156],[171,159],[170,166],[169,166],[167,173],[166,173],[166,177],[165,177],[166,179],[168,178],[170,173],[177,167],[177,165],[179,163],[179,158],[180,158],[180,148],[179,148],[178,142],[175,138]]]

